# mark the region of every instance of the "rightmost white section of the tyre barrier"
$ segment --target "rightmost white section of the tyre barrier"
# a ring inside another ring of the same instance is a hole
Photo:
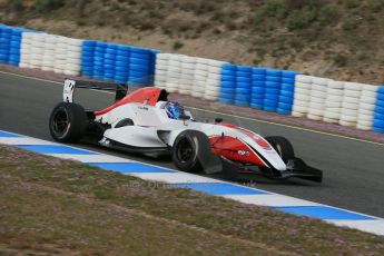
[[[376,86],[296,76],[292,116],[373,129]]]

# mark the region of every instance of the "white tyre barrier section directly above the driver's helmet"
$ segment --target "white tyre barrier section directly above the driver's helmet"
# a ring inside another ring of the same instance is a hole
[[[169,92],[217,100],[224,61],[185,55],[158,53],[155,86]]]

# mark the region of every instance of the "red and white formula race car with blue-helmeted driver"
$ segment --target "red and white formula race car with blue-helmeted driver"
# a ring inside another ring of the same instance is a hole
[[[116,102],[86,111],[73,102],[75,88],[116,91]],[[264,138],[218,118],[196,121],[180,104],[168,101],[168,92],[160,88],[127,91],[127,86],[66,79],[63,102],[50,115],[51,136],[60,142],[87,139],[128,152],[170,155],[183,171],[215,174],[235,168],[268,178],[322,181],[322,171],[296,158],[284,137]]]

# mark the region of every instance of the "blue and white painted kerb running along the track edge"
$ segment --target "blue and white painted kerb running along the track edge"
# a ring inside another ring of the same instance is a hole
[[[346,226],[384,236],[384,219],[365,214],[3,130],[0,130],[0,144],[61,159],[73,159],[105,170],[117,171],[145,180],[167,183],[174,187],[189,188],[245,204],[267,206],[284,213],[318,218],[337,226]]]

